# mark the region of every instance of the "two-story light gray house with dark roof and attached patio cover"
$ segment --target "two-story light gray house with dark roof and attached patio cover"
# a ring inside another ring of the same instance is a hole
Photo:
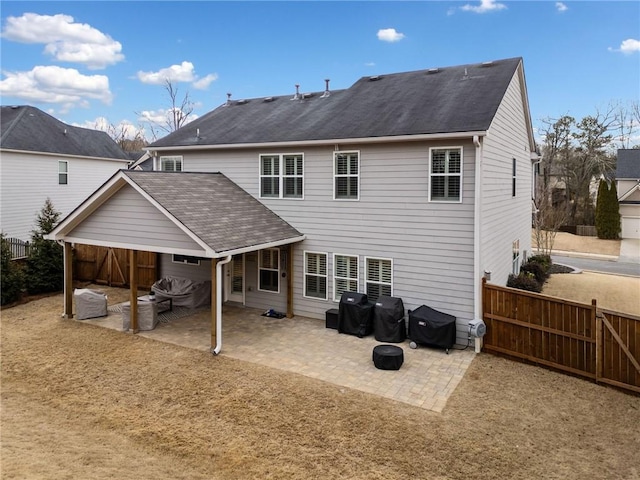
[[[520,58],[229,99],[148,149],[171,172],[118,174],[53,236],[160,252],[162,275],[216,285],[224,258],[222,300],[260,309],[324,318],[345,291],[400,297],[455,315],[461,343],[483,276],[505,284],[531,252]],[[216,195],[218,177],[239,191]]]

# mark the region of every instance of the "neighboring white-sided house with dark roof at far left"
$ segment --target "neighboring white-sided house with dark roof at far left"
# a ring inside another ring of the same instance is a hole
[[[1,111],[0,228],[29,240],[48,198],[63,218],[129,157],[104,132],[74,127],[35,107]]]

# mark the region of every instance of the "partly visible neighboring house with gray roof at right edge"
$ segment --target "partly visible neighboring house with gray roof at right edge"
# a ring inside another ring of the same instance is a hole
[[[616,189],[622,238],[640,239],[640,149],[618,150]]]

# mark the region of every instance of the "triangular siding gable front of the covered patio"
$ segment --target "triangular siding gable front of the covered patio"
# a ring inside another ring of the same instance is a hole
[[[126,185],[67,235],[77,243],[204,255],[203,248],[132,186]],[[85,242],[83,242],[83,240]]]

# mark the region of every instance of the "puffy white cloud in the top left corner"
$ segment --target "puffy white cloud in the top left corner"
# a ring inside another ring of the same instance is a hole
[[[45,44],[44,52],[63,62],[102,69],[124,60],[122,45],[86,23],[75,23],[69,15],[25,13],[8,17],[2,37],[20,43]]]

